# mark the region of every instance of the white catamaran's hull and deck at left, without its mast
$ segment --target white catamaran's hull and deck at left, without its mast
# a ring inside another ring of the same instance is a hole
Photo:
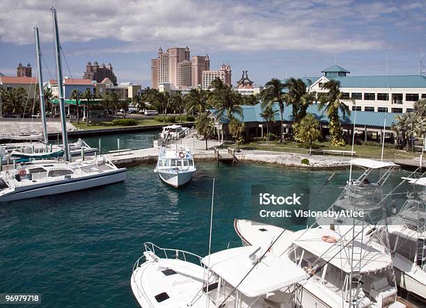
[[[105,156],[67,161],[33,161],[19,169],[0,172],[0,202],[68,193],[126,179]]]

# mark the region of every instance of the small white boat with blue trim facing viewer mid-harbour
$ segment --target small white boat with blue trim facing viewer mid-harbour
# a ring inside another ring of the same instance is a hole
[[[158,173],[164,183],[179,188],[191,180],[196,170],[194,157],[187,145],[160,147],[154,172]]]

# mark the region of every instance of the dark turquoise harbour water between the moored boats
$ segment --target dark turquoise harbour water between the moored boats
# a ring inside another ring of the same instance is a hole
[[[120,138],[131,148],[150,140],[149,133],[132,136]],[[107,140],[116,137],[102,138],[102,145]],[[130,277],[144,242],[207,254],[213,178],[212,250],[217,251],[240,245],[233,220],[251,218],[252,185],[315,191],[333,173],[198,163],[190,184],[175,190],[162,184],[153,168],[129,168],[120,184],[1,204],[0,293],[41,293],[43,307],[137,307]],[[347,175],[336,172],[315,197],[315,207],[335,200]]]

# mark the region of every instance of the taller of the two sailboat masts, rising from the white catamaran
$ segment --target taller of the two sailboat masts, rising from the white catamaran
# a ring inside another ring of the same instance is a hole
[[[65,152],[65,160],[70,161],[70,149],[68,149],[67,123],[65,122],[65,93],[63,91],[62,63],[61,63],[61,43],[59,42],[58,18],[56,17],[56,9],[51,8],[54,22],[55,36],[55,54],[56,54],[56,73],[58,77],[58,93],[59,93],[59,110],[61,111],[61,127],[63,150]]]

